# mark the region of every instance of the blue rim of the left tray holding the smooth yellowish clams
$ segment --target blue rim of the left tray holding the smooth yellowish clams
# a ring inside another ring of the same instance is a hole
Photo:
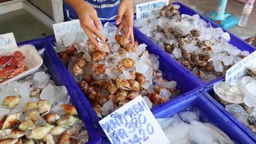
[[[18,43],[18,46],[31,44],[36,47],[37,50],[45,48],[45,42],[43,39],[35,39],[30,41],[25,41],[22,43]],[[46,47],[46,50],[43,54],[44,64],[48,67],[48,73],[51,75],[51,80],[53,80],[57,86],[66,86],[68,94],[71,96],[71,103],[77,108],[79,113],[79,117],[83,120],[86,129],[89,133],[89,142],[88,144],[92,143],[99,143],[101,141],[101,136],[98,134],[95,124],[91,121],[88,112],[85,110],[83,104],[78,98],[77,93],[73,90],[71,84],[69,83],[66,75],[63,73],[61,66],[55,60],[53,53]]]

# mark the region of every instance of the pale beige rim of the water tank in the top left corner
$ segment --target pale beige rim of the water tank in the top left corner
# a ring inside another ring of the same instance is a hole
[[[28,13],[32,14],[34,17],[37,17],[38,20],[43,22],[49,28],[53,29],[53,24],[55,22],[26,0],[14,0],[0,3],[0,14],[5,14],[18,9],[27,10]]]

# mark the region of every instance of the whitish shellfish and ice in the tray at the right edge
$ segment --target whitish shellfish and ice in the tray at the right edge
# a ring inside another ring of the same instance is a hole
[[[256,79],[255,69],[248,68],[248,74],[230,83],[219,82],[214,85],[214,98],[223,104],[238,121],[256,134]]]

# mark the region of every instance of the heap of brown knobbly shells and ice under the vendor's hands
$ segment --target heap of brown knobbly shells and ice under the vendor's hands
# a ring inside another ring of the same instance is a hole
[[[179,95],[177,82],[164,79],[158,57],[148,53],[147,45],[131,44],[125,35],[115,35],[116,31],[114,25],[105,24],[101,32],[108,39],[102,42],[96,38],[101,50],[86,38],[73,41],[66,49],[54,44],[98,117],[109,115],[138,95],[149,107]]]

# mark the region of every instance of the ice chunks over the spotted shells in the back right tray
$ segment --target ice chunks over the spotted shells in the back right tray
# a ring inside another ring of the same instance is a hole
[[[135,27],[137,27],[142,33],[146,34],[150,39],[155,41],[162,49],[165,50],[165,43],[174,44],[172,51],[168,51],[173,58],[184,61],[184,56],[180,47],[178,46],[177,35],[187,35],[190,31],[196,29],[200,32],[200,36],[197,38],[181,38],[185,40],[184,49],[189,53],[203,53],[203,48],[210,46],[211,52],[208,55],[210,59],[202,60],[206,61],[208,65],[214,67],[212,70],[207,70],[204,67],[191,66],[194,64],[184,65],[195,75],[199,76],[203,81],[210,82],[216,79],[220,75],[224,75],[226,69],[231,65],[241,61],[242,56],[248,56],[248,51],[241,51],[237,47],[229,44],[230,35],[229,33],[223,32],[221,28],[211,27],[211,23],[200,19],[199,15],[174,15],[172,19],[161,17],[160,11],[155,11],[154,14],[150,14],[146,19],[137,19],[134,21]],[[181,17],[181,18],[179,18]],[[160,29],[159,29],[160,27]],[[202,47],[197,46],[197,41],[210,40],[211,45],[203,45]],[[187,61],[187,60],[186,60]],[[193,69],[194,68],[194,69]],[[200,73],[198,73],[200,71]],[[217,73],[218,72],[218,73]]]

